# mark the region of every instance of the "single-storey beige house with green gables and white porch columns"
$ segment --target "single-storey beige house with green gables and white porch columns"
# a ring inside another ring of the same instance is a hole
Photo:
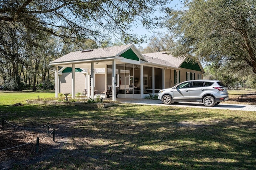
[[[119,98],[143,99],[182,81],[202,79],[204,74],[199,61],[167,52],[142,54],[133,44],[71,52],[50,65],[56,68],[56,97],[71,93],[72,98],[84,89],[88,97],[94,97],[116,87],[113,94],[118,92]]]

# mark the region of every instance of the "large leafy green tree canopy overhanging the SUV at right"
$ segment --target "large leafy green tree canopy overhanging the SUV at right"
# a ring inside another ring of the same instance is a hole
[[[167,12],[175,55],[226,61],[256,73],[256,0],[186,0],[182,10]]]

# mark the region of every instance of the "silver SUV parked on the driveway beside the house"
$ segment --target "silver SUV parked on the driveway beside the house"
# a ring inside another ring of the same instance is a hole
[[[164,104],[192,101],[201,102],[212,107],[221,101],[228,100],[228,91],[225,85],[218,80],[190,80],[184,81],[170,89],[158,92],[158,99]]]

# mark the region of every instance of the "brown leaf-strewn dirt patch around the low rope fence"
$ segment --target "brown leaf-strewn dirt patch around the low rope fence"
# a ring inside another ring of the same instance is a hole
[[[50,131],[49,131],[50,132]],[[48,154],[56,152],[61,142],[54,142],[52,134],[46,133],[46,128],[25,130],[16,127],[4,126],[0,130],[1,136],[1,170],[11,169],[12,164],[26,165],[28,162],[40,161]],[[36,138],[39,137],[38,153],[36,153]]]

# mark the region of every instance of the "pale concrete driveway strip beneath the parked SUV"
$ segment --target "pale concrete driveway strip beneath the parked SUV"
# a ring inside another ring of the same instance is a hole
[[[171,105],[164,105],[160,100],[152,99],[117,99],[124,103],[141,104],[141,105],[156,105],[156,106],[173,106],[173,107],[194,107],[194,108],[206,108],[206,109],[228,109],[228,110],[239,110],[239,111],[256,111],[256,105],[240,105],[240,104],[227,104],[221,102],[219,105],[214,107],[205,107],[203,103],[194,102],[180,102],[173,103]]]

